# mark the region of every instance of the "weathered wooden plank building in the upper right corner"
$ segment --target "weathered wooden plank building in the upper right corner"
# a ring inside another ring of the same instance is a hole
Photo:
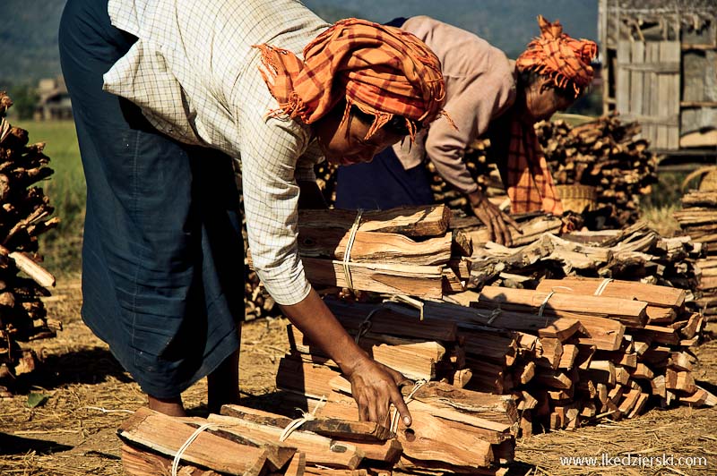
[[[717,148],[717,0],[600,0],[603,106],[652,149]]]

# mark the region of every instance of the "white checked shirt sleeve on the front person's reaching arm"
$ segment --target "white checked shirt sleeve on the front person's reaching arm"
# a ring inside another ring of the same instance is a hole
[[[298,170],[308,166],[307,126],[269,118],[273,98],[256,70],[237,90],[242,187],[249,249],[257,274],[280,304],[296,304],[311,286],[298,256]]]

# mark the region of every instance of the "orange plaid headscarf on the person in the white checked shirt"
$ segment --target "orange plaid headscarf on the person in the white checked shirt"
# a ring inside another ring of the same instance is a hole
[[[304,48],[304,61],[285,49],[255,47],[262,52],[263,80],[279,102],[274,115],[314,123],[345,98],[343,120],[351,105],[376,116],[367,138],[400,115],[413,140],[416,123],[426,125],[445,114],[440,61],[407,31],[341,20]]]

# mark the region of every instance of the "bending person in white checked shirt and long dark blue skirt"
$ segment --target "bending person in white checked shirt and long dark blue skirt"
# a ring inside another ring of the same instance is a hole
[[[296,0],[69,0],[60,55],[87,181],[82,318],[148,395],[184,415],[238,402],[244,250],[284,314],[351,381],[362,420],[410,413],[308,283],[299,206],[313,166],[348,165],[442,114],[440,64],[414,35],[327,25]]]

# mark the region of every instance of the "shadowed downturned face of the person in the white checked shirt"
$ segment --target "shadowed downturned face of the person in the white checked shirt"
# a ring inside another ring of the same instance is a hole
[[[330,163],[348,166],[370,162],[377,153],[403,139],[402,135],[388,132],[385,127],[365,139],[371,125],[354,115],[341,123],[342,115],[343,107],[336,106],[314,124],[319,148]]]

